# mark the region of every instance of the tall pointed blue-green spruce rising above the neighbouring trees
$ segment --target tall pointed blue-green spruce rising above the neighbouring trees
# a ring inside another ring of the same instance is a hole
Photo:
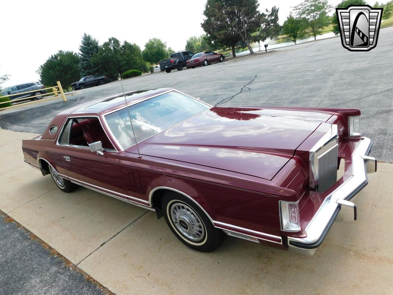
[[[98,41],[93,39],[91,35],[84,33],[81,45],[79,45],[79,51],[81,52],[81,62],[79,63],[81,76],[97,75],[97,66],[92,63],[92,57],[98,53],[98,49]]]

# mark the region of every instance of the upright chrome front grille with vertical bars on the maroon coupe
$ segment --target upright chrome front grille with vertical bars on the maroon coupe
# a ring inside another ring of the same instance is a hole
[[[318,192],[325,192],[337,181],[338,145],[318,157]]]

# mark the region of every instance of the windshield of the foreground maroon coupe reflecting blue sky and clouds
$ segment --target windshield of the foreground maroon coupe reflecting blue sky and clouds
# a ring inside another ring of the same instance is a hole
[[[176,91],[129,107],[138,142],[208,109],[208,105]],[[127,108],[107,114],[105,120],[122,149],[135,144]]]

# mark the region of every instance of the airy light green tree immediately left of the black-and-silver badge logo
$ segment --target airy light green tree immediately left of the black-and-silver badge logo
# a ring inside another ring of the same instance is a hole
[[[305,0],[294,7],[296,17],[304,18],[307,22],[314,40],[317,35],[322,34],[322,28],[329,24],[329,17],[327,13],[332,9],[332,6],[327,0]]]

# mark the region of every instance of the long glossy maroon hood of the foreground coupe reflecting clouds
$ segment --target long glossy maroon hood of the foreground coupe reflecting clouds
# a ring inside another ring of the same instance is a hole
[[[143,140],[138,147],[142,155],[271,180],[296,148],[330,117],[300,113],[213,107]],[[137,152],[135,146],[125,151]]]

